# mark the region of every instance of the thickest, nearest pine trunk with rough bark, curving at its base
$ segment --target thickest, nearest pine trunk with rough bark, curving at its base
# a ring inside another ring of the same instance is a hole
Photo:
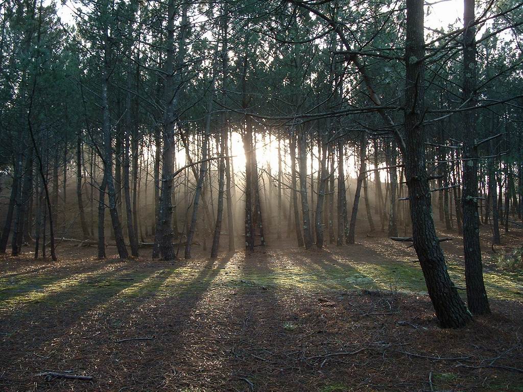
[[[425,42],[423,2],[407,0],[405,40],[405,177],[411,204],[413,243],[436,316],[444,328],[459,328],[471,320],[450,280],[445,257],[436,237],[430,189],[425,167]]]

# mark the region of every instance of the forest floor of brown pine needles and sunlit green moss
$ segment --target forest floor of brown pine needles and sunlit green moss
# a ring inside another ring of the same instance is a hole
[[[497,270],[486,239],[493,314],[462,330],[438,327],[413,248],[382,237],[217,260],[5,256],[0,389],[523,391],[523,273]],[[460,239],[442,246],[463,287]]]

